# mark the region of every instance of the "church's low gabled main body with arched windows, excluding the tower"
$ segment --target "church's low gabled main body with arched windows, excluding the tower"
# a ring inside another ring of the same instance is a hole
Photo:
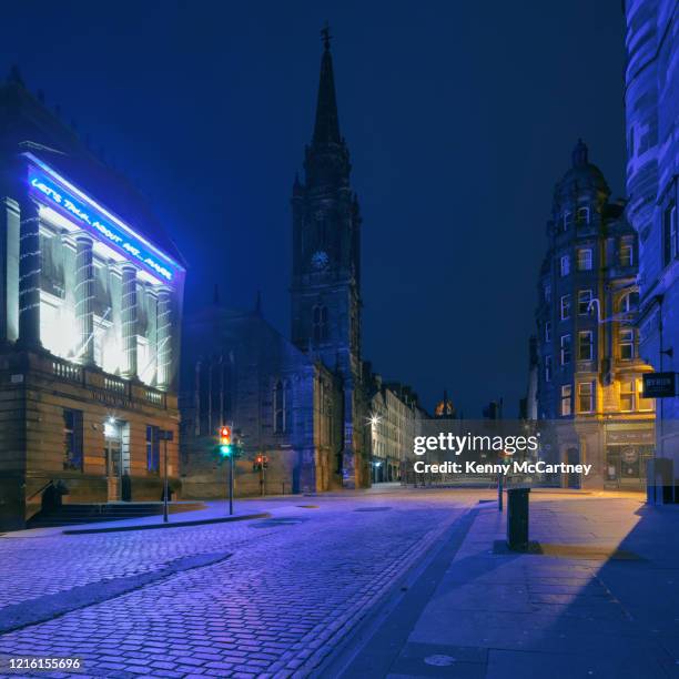
[[[186,320],[182,358],[183,497],[223,498],[217,432],[232,425],[243,456],[239,496],[342,487],[341,379],[302,353],[259,310],[214,305]],[[266,468],[254,468],[257,456]]]

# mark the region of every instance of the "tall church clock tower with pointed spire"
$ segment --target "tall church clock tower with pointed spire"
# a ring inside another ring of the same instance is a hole
[[[361,379],[361,215],[349,184],[349,154],[340,133],[330,30],[323,36],[321,81],[304,181],[292,196],[292,340],[334,369],[344,385],[346,487],[366,482],[365,398]],[[341,468],[341,469],[340,469]]]

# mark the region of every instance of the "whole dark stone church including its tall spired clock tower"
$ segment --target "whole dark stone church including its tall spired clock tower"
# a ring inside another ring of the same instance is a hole
[[[340,132],[330,36],[304,180],[292,195],[292,342],[261,316],[214,305],[188,318],[182,379],[184,497],[224,495],[216,435],[243,440],[237,495],[371,483],[361,356],[361,215]],[[267,458],[267,468],[253,464]]]

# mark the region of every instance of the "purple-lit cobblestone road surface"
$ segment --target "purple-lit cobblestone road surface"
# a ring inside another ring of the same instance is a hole
[[[80,673],[42,677],[304,677],[477,497],[402,490],[297,498],[313,506],[278,507],[272,519],[3,538],[6,610],[68,599],[74,588],[166,569],[176,559],[231,556],[55,611],[0,636],[0,655],[83,660]]]

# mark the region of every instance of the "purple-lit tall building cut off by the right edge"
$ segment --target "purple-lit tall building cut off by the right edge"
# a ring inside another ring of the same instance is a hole
[[[639,234],[640,353],[675,376],[658,398],[657,455],[679,476],[679,2],[626,0],[627,216]]]

